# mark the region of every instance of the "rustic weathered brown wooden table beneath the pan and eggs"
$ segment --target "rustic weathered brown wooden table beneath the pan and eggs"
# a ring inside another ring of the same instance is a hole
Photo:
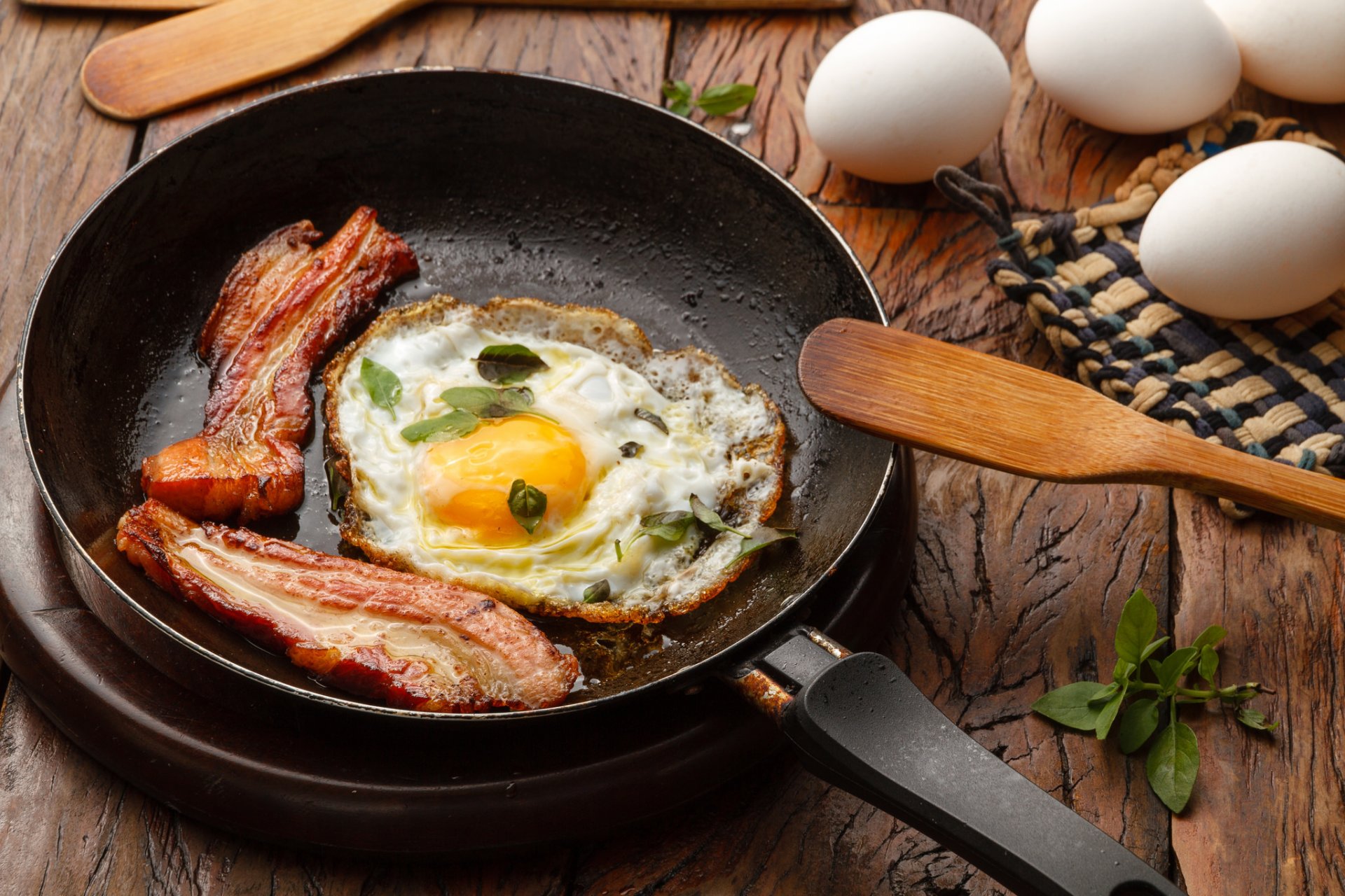
[[[284,83],[438,64],[545,71],[651,101],[667,77],[756,83],[742,145],[826,211],[897,325],[1059,372],[1020,309],[987,286],[994,242],[981,224],[928,187],[877,187],[830,168],[807,137],[804,87],[823,52],[855,21],[909,5],[976,21],[1009,56],[1013,106],[976,165],[1020,208],[1098,201],[1167,142],[1095,130],[1045,99],[1022,51],[1029,0],[859,0],[850,13],[777,16],[434,5]],[[105,120],[79,95],[79,63],[145,20],[0,0],[0,369],[12,367],[38,278],[78,214],[136,160],[278,86],[148,125]],[[1235,102],[1345,142],[1338,107],[1251,89]],[[1345,892],[1345,540],[1283,520],[1229,523],[1205,498],[1157,488],[1046,485],[935,457],[920,458],[920,474],[917,568],[886,650],[950,719],[1192,893]],[[1271,739],[1188,711],[1202,764],[1180,818],[1150,793],[1139,760],[1029,712],[1044,690],[1110,670],[1111,631],[1137,586],[1180,639],[1227,626],[1228,680],[1274,685],[1256,705],[1284,720]],[[143,797],[66,742],[3,669],[0,688],[3,893],[1001,889],[787,756],[619,838],[508,860],[375,865],[272,848]],[[573,832],[558,819],[557,833]]]

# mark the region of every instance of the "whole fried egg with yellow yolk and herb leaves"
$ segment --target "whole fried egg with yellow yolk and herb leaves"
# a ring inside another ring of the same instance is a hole
[[[539,360],[500,382],[477,360],[492,347]],[[605,309],[440,296],[385,312],[323,379],[343,537],[523,610],[686,613],[741,572],[741,533],[780,494],[784,423],[765,392],[695,348],[654,349]],[[635,537],[693,496],[738,533]]]

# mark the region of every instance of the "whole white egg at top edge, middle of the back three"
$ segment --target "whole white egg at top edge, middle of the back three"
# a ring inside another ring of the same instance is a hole
[[[1237,89],[1237,43],[1202,0],[1040,0],[1032,74],[1065,111],[1127,134],[1176,130]]]

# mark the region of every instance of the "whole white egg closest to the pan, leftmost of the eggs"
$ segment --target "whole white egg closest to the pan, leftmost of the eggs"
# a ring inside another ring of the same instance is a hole
[[[1009,111],[1009,63],[970,21],[929,9],[880,16],[831,48],[808,85],[808,133],[850,173],[892,184],[966,165]]]

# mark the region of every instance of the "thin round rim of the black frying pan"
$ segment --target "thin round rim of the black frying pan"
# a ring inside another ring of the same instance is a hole
[[[70,525],[67,524],[63,513],[56,508],[55,497],[52,496],[51,490],[47,488],[47,482],[43,478],[42,470],[39,469],[39,465],[38,465],[36,451],[34,450],[34,446],[32,446],[32,434],[30,433],[30,429],[28,429],[27,398],[26,398],[24,386],[26,386],[26,379],[27,379],[27,376],[26,376],[27,367],[30,364],[30,351],[28,351],[30,349],[30,339],[31,339],[31,334],[32,334],[32,324],[34,324],[34,318],[36,317],[38,305],[42,301],[43,294],[46,293],[47,282],[51,278],[52,271],[55,270],[56,265],[61,263],[66,258],[66,250],[69,249],[71,240],[77,236],[77,234],[79,234],[82,231],[82,228],[85,227],[85,224],[95,214],[98,214],[98,210],[113,196],[113,193],[116,193],[117,191],[122,189],[128,183],[130,183],[140,173],[141,169],[144,169],[148,165],[153,164],[153,161],[159,156],[161,156],[163,153],[165,153],[167,150],[191,142],[194,138],[198,138],[202,133],[210,130],[211,128],[215,128],[215,126],[222,125],[225,122],[229,122],[229,121],[233,121],[235,118],[243,117],[246,114],[252,114],[256,110],[258,110],[258,109],[261,109],[261,107],[264,107],[264,106],[266,106],[269,103],[284,102],[285,99],[296,97],[296,95],[300,95],[300,94],[313,94],[313,93],[319,93],[319,91],[335,90],[335,89],[339,89],[343,85],[348,85],[351,82],[359,82],[359,81],[379,81],[379,79],[385,79],[385,78],[420,77],[420,75],[432,75],[432,77],[436,77],[436,75],[471,75],[471,77],[482,77],[482,75],[484,75],[484,77],[492,77],[492,78],[494,77],[512,77],[512,78],[525,78],[525,79],[531,79],[531,81],[539,81],[539,82],[546,82],[546,83],[551,83],[551,85],[560,85],[562,87],[573,89],[573,90],[578,90],[578,91],[594,93],[594,94],[599,94],[599,95],[603,95],[603,97],[607,97],[607,98],[611,98],[611,99],[616,99],[619,102],[635,103],[636,106],[643,107],[643,110],[646,113],[652,111],[655,114],[666,116],[667,118],[679,122],[679,126],[694,129],[694,132],[701,136],[699,138],[710,138],[712,141],[717,141],[721,146],[728,148],[730,150],[730,154],[732,153],[737,153],[737,157],[740,160],[746,161],[751,165],[755,165],[761,173],[767,175],[768,180],[773,181],[775,185],[777,185],[777,187],[783,187],[787,191],[787,195],[791,199],[794,199],[798,203],[800,203],[802,211],[806,211],[808,215],[811,215],[811,218],[814,219],[815,223],[818,223],[818,224],[822,226],[823,234],[827,235],[833,240],[833,243],[835,244],[835,247],[845,255],[845,258],[850,262],[850,265],[853,266],[853,269],[861,275],[862,282],[863,282],[865,287],[868,289],[869,298],[873,302],[873,308],[874,308],[874,312],[877,313],[878,321],[884,326],[886,326],[886,325],[890,324],[890,321],[888,318],[888,313],[886,313],[886,310],[882,306],[882,298],[878,294],[877,287],[873,285],[873,279],[869,277],[868,270],[865,270],[863,265],[859,262],[858,257],[854,254],[854,250],[845,240],[845,238],[841,235],[841,232],[835,228],[835,226],[831,224],[831,222],[827,219],[827,216],[822,214],[822,211],[812,203],[812,200],[810,200],[807,196],[804,196],[799,191],[798,187],[795,187],[792,183],[790,183],[788,179],[785,179],[784,176],[781,176],[773,168],[771,168],[769,165],[767,165],[763,160],[757,159],[756,156],[753,156],[748,150],[742,149],[741,146],[738,146],[733,141],[728,140],[722,134],[718,134],[718,133],[716,133],[713,130],[709,130],[707,128],[703,128],[703,126],[701,126],[698,124],[693,124],[690,120],[683,118],[682,116],[677,116],[672,111],[664,109],[663,106],[656,106],[656,105],[654,105],[654,103],[651,103],[651,102],[648,102],[646,99],[640,99],[639,97],[631,97],[628,94],[619,93],[619,91],[612,90],[609,87],[603,87],[603,86],[599,86],[599,85],[589,85],[589,83],[584,83],[584,82],[580,82],[580,81],[573,81],[573,79],[569,79],[569,78],[558,78],[555,75],[522,73],[522,71],[499,71],[499,70],[490,70],[490,69],[471,69],[471,67],[460,67],[460,66],[424,66],[424,67],[381,69],[381,70],[375,70],[375,71],[336,75],[334,78],[325,78],[325,79],[321,79],[321,81],[315,81],[315,82],[309,82],[309,83],[304,83],[304,85],[297,85],[295,87],[288,87],[285,90],[280,90],[280,91],[269,94],[266,97],[260,97],[257,99],[246,102],[246,103],[243,103],[241,106],[230,109],[229,111],[226,111],[226,113],[223,113],[223,114],[221,114],[221,116],[218,116],[215,118],[211,118],[210,121],[206,121],[206,122],[203,122],[200,125],[196,125],[191,130],[183,133],[179,137],[175,137],[174,140],[171,140],[169,142],[164,144],[159,149],[155,149],[152,153],[149,153],[148,156],[145,156],[144,159],[141,159],[140,161],[137,161],[134,165],[132,165],[129,169],[126,169],[120,177],[117,177],[116,181],[113,181],[102,193],[100,193],[98,197],[89,206],[89,208],[86,208],[79,215],[79,218],[74,222],[74,224],[70,226],[70,230],[66,231],[66,235],[61,239],[61,243],[56,246],[55,253],[52,254],[51,259],[47,262],[47,267],[42,273],[42,277],[38,281],[38,286],[34,290],[32,300],[28,304],[28,312],[27,312],[27,314],[24,317],[23,334],[22,334],[20,341],[19,341],[19,355],[17,355],[16,365],[15,365],[16,373],[15,373],[13,383],[15,383],[16,406],[17,406],[17,415],[19,415],[19,438],[20,438],[20,442],[23,443],[23,450],[24,450],[24,454],[27,455],[27,459],[28,459],[28,469],[32,473],[32,478],[34,478],[35,486],[38,489],[39,496],[42,497],[43,505],[46,506],[47,516],[51,520],[51,525],[55,528],[56,533],[61,536],[61,539],[66,544],[67,551],[65,553],[66,553],[66,557],[67,557],[67,563],[69,563],[70,553],[73,553],[78,559],[78,562],[83,563],[87,568],[93,570],[94,575],[101,580],[101,583],[106,588],[109,588],[112,591],[113,595],[116,595],[116,598],[118,600],[121,600],[125,604],[128,604],[137,615],[140,615],[145,622],[148,622],[151,626],[153,626],[155,629],[157,629],[161,634],[164,634],[164,635],[169,637],[171,639],[176,641],[183,647],[187,647],[188,650],[196,653],[199,657],[202,657],[202,658],[204,658],[204,660],[207,660],[210,662],[214,662],[214,664],[217,664],[217,665],[227,669],[229,672],[231,672],[234,674],[243,676],[245,678],[249,678],[250,681],[257,682],[257,684],[260,684],[262,686],[270,688],[273,690],[278,690],[282,695],[285,695],[286,697],[296,697],[296,699],[300,699],[300,700],[304,700],[304,701],[309,701],[312,704],[316,704],[316,705],[319,705],[321,708],[328,708],[328,709],[354,711],[354,712],[358,712],[358,713],[377,716],[377,717],[383,717],[383,719],[391,717],[391,719],[414,720],[414,721],[433,721],[433,723],[438,723],[438,724],[449,724],[452,721],[457,721],[457,723],[476,721],[476,723],[483,723],[484,724],[486,721],[502,723],[504,720],[514,720],[514,721],[518,721],[518,723],[523,723],[523,721],[537,721],[537,720],[541,720],[541,719],[554,717],[554,716],[558,716],[558,715],[568,715],[568,713],[581,712],[581,711],[585,711],[585,709],[594,709],[596,711],[599,708],[609,708],[609,707],[612,707],[612,705],[615,705],[617,703],[625,703],[625,701],[642,697],[644,695],[654,693],[656,690],[675,689],[677,686],[679,686],[682,684],[687,684],[687,682],[691,682],[691,681],[695,681],[695,680],[699,680],[699,678],[709,677],[709,674],[713,673],[713,670],[716,668],[721,668],[722,669],[722,668],[728,666],[734,657],[744,656],[745,653],[751,652],[753,649],[753,646],[761,645],[764,641],[769,639],[769,637],[772,635],[772,633],[779,633],[783,627],[785,627],[784,623],[788,622],[788,617],[794,613],[794,610],[798,606],[800,606],[800,604],[808,603],[810,599],[812,598],[812,595],[819,588],[822,588],[822,587],[826,586],[827,576],[823,575],[823,576],[815,579],[808,587],[806,587],[804,590],[802,590],[802,591],[791,595],[788,599],[785,599],[780,604],[780,607],[776,610],[776,613],[768,621],[765,621],[764,623],[761,623],[760,626],[757,626],[752,633],[749,633],[744,638],[740,638],[738,641],[734,641],[729,646],[726,646],[726,647],[716,652],[714,654],[710,654],[709,657],[703,657],[703,658],[698,660],[697,662],[693,662],[690,665],[682,666],[681,669],[677,669],[675,672],[671,672],[671,673],[663,676],[662,678],[656,678],[654,681],[647,681],[647,682],[636,685],[636,686],[628,689],[628,690],[621,690],[621,692],[617,692],[617,693],[613,693],[613,695],[607,695],[604,697],[597,697],[597,699],[593,699],[593,700],[585,700],[585,701],[578,701],[578,703],[562,703],[562,704],[560,704],[557,707],[547,707],[547,708],[539,708],[539,709],[515,709],[515,711],[507,711],[507,712],[484,712],[484,713],[437,713],[437,712],[425,712],[425,711],[417,711],[417,709],[399,709],[399,708],[393,708],[393,707],[382,707],[382,705],[377,705],[377,704],[363,703],[363,701],[359,701],[359,700],[355,700],[355,699],[350,699],[350,697],[334,696],[334,695],[327,695],[327,693],[319,693],[319,692],[315,692],[315,690],[307,690],[307,689],[303,689],[303,688],[297,688],[295,685],[289,685],[289,684],[286,684],[284,681],[278,681],[278,680],[272,678],[269,676],[265,676],[265,674],[262,674],[262,673],[260,673],[257,670],[253,670],[253,669],[249,669],[249,668],[246,668],[243,665],[239,665],[239,664],[229,660],[227,657],[222,657],[218,653],[214,653],[213,650],[208,650],[203,645],[196,643],[191,638],[187,638],[186,635],[183,635],[182,633],[179,633],[172,626],[167,625],[164,621],[161,621],[155,614],[149,613],[145,607],[143,607],[140,604],[140,602],[137,602],[134,598],[132,598],[130,594],[128,594],[125,590],[122,590],[104,571],[104,568],[101,566],[98,566],[98,563],[93,559],[93,556],[85,548],[85,545],[81,544],[81,541],[75,537],[74,532],[70,529]],[[901,454],[901,451],[902,451],[902,449],[900,446],[894,445],[892,447],[892,451],[888,454],[886,467],[885,467],[885,470],[882,473],[882,478],[881,478],[881,481],[878,484],[878,488],[874,492],[873,500],[872,500],[868,510],[863,514],[863,520],[859,524],[859,527],[855,529],[855,533],[850,539],[850,541],[845,545],[845,548],[841,549],[841,552],[833,560],[833,567],[837,563],[839,563],[843,557],[846,557],[846,556],[849,556],[851,553],[851,551],[854,549],[855,543],[863,536],[863,533],[873,524],[873,520],[874,520],[874,516],[878,512],[878,508],[882,505],[884,500],[888,496],[888,490],[892,488],[893,476],[894,476],[894,472],[897,469],[897,458]]]

